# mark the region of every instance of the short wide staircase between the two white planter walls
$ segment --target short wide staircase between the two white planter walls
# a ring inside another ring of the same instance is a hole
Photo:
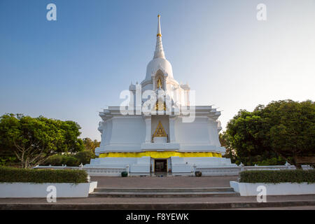
[[[233,188],[95,188],[89,197],[231,197]]]

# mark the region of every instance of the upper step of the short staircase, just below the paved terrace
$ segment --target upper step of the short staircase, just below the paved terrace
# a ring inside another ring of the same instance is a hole
[[[195,192],[233,192],[233,188],[95,188],[94,192],[128,193],[195,193]]]

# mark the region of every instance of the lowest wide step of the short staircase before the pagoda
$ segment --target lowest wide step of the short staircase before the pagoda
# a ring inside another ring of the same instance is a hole
[[[225,192],[93,192],[89,197],[231,197],[234,191]]]

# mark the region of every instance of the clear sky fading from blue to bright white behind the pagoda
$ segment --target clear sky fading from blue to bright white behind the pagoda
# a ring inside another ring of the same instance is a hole
[[[100,139],[99,111],[146,76],[158,13],[174,78],[223,128],[239,109],[315,99],[314,0],[0,0],[0,114],[74,120]]]

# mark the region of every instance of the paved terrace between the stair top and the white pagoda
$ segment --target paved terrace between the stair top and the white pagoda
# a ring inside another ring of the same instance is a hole
[[[92,176],[97,188],[218,188],[230,187],[238,176],[163,176],[118,177]]]

